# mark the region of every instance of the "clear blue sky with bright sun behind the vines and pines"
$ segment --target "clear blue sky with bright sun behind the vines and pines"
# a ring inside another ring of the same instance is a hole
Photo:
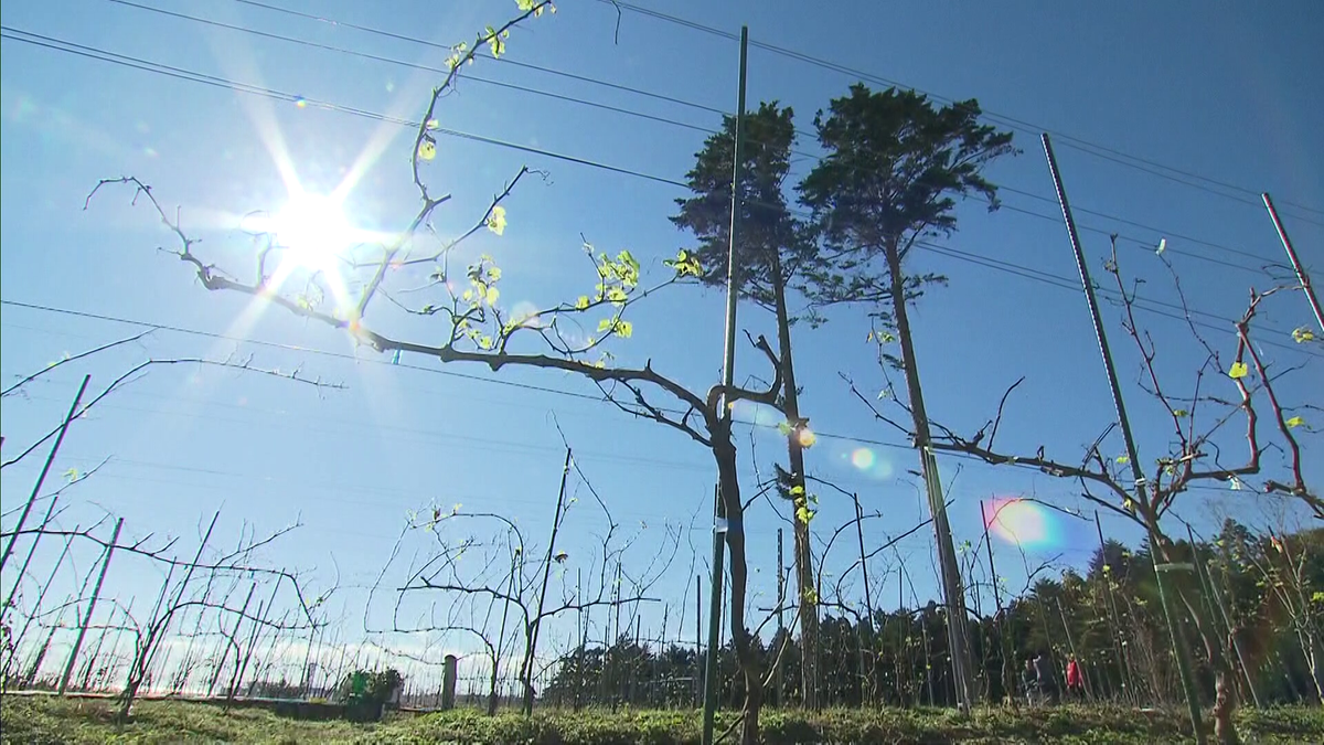
[[[11,3],[3,19],[11,29],[410,121],[421,114],[438,76],[343,50],[412,65],[441,66],[445,60],[436,48],[230,0],[143,4],[342,52],[107,0]],[[477,29],[514,12],[514,3],[507,1],[274,4],[441,44],[470,40]],[[1057,207],[1034,196],[1053,194],[1034,134],[1039,129],[1061,133],[1058,159],[1071,199],[1082,209],[1078,220],[1102,231],[1083,232],[1099,281],[1111,280],[1100,270],[1107,251],[1103,233],[1117,231],[1136,239],[1123,240],[1119,251],[1123,269],[1147,280],[1143,296],[1176,302],[1152,248],[1166,237],[1168,256],[1181,273],[1190,305],[1209,314],[1200,318],[1215,326],[1209,338],[1225,355],[1235,346],[1226,319],[1245,310],[1253,284],[1260,289],[1268,285],[1254,268],[1283,260],[1259,205],[1259,190],[1279,200],[1307,265],[1320,264],[1324,146],[1311,135],[1324,121],[1313,74],[1324,69],[1324,50],[1317,44],[1324,9],[1313,3],[1219,5],[1201,13],[1139,3],[1124,12],[1030,3],[997,8],[842,3],[812,8],[678,1],[650,7],[731,33],[747,24],[756,42],[940,97],[974,97],[986,111],[1004,117],[996,123],[1005,126],[1010,118],[1027,129],[1016,134],[1023,152],[997,163],[989,174],[1009,188],[1002,194],[1008,209],[989,215],[978,205],[965,205],[961,231],[943,241],[967,255],[1023,269],[1009,273],[935,252],[915,258],[915,269],[951,278],[949,288],[922,301],[915,325],[929,412],[953,428],[976,430],[996,410],[1002,390],[1021,375],[1026,383],[1009,404],[1000,433],[1005,447],[1029,452],[1045,444],[1050,453],[1072,460],[1113,418],[1084,304],[1079,289],[1072,289],[1075,268]],[[620,20],[616,37],[617,13],[609,4],[567,1],[557,15],[515,30],[508,58],[698,106],[490,58],[470,73],[688,127],[477,80],[463,81],[458,93],[444,101],[438,119],[454,130],[682,179],[706,137],[702,130],[719,123],[719,115],[704,107],[735,106],[737,45],[630,11]],[[199,522],[205,525],[211,512],[224,505],[217,533],[224,538],[218,542],[233,545],[244,522],[261,533],[302,518],[303,528],[269,549],[265,559],[315,569],[312,577],[320,583],[339,573],[342,585],[351,587],[342,594],[348,623],[361,626],[364,593],[352,586],[369,583],[381,569],[408,510],[432,502],[446,508],[462,504],[462,510],[518,517],[532,530],[547,526],[564,455],[555,415],[580,468],[622,530],[637,532],[630,563],[657,555],[665,544],[665,525],[683,528],[681,551],[650,595],[673,606],[669,635],[692,638],[692,610],[686,612],[682,630],[674,606],[690,598],[692,608],[691,577],[703,571],[707,554],[704,513],[714,475],[711,457],[702,448],[601,403],[487,382],[493,375],[481,367],[442,370],[432,361],[408,357],[391,366],[387,358],[354,349],[343,335],[279,309],[252,312],[246,298],[209,294],[185,266],[155,251],[168,245],[169,235],[146,208],[130,207],[127,191],[107,191],[82,211],[83,198],[98,179],[139,176],[168,209],[180,207],[185,229],[204,239],[201,253],[232,270],[250,272],[253,248],[237,216],[278,208],[286,198],[271,156],[273,135],[278,133],[310,191],[335,188],[361,160],[365,167],[347,200],[347,215],[365,229],[391,231],[400,229],[416,209],[406,129],[12,38],[4,41],[3,53],[4,300],[201,333],[158,330],[140,345],[53,372],[30,386],[25,398],[7,399],[7,457],[17,443],[30,441],[58,422],[79,372],[90,372],[93,387],[99,390],[147,357],[252,355],[256,366],[299,367],[308,376],[344,386],[316,391],[233,370],[155,370],[109,398],[70,432],[57,473],[71,467],[86,469],[107,456],[111,461],[68,493],[70,508],[64,522],[93,521],[101,514],[97,505],[102,505],[126,518],[128,536],[176,534],[184,536],[184,545],[196,545]],[[756,46],[748,80],[751,106],[779,99],[796,109],[798,129],[809,131],[813,113],[858,76]],[[882,87],[876,80],[871,85]],[[1104,154],[1112,159],[1091,155],[1068,138],[1237,188],[1189,176],[1178,176],[1188,183],[1177,183],[1121,164],[1112,154]],[[806,139],[798,146],[808,152],[814,147]],[[377,155],[363,158],[365,151]],[[522,164],[545,170],[548,176],[520,183],[507,203],[510,225],[503,236],[483,232],[462,249],[465,256],[489,252],[496,257],[506,272],[503,301],[556,302],[591,286],[593,278],[585,276],[579,251],[581,233],[605,251],[632,249],[655,277],[663,276],[658,261],[686,243],[666,219],[674,209],[671,200],[683,195],[675,186],[457,138],[441,138],[438,156],[426,171],[436,190],[454,194],[437,212],[438,233],[467,228]],[[797,164],[810,166],[808,160]],[[1042,281],[1045,276],[1050,281]],[[1141,451],[1157,451],[1169,439],[1162,411],[1136,386],[1139,358],[1119,326],[1119,309],[1106,304],[1104,315]],[[240,323],[241,318],[250,322]],[[614,351],[629,363],[651,359],[658,370],[704,390],[718,379],[720,318],[719,293],[674,288],[638,306],[634,338],[617,343]],[[1311,402],[1312,394],[1319,403],[1317,347],[1311,355],[1290,335],[1308,318],[1304,298],[1292,294],[1268,304],[1259,326],[1264,353],[1275,362],[1284,367],[1307,363],[1282,383],[1283,399],[1296,403]],[[369,312],[369,321],[401,337],[426,339],[429,334],[425,323],[393,315],[385,306]],[[1189,390],[1196,350],[1184,323],[1148,313],[1141,323],[1160,343],[1166,379]],[[771,331],[768,318],[749,306],[741,308],[741,325]],[[16,305],[3,308],[3,329],[0,374],[7,382],[65,353],[135,330]],[[878,388],[866,331],[862,313],[835,312],[820,330],[797,329],[796,351],[805,384],[802,408],[824,433],[810,451],[809,468],[858,492],[866,513],[883,513],[870,522],[866,536],[878,544],[923,520],[927,510],[907,473],[916,468],[915,455],[876,444],[902,443],[870,419],[838,375],[850,375],[865,390]],[[236,334],[318,351],[216,337]],[[755,354],[741,349],[737,379],[765,374]],[[502,371],[496,378],[594,392],[585,382],[556,372]],[[1235,394],[1226,379],[1210,384],[1223,386],[1223,395]],[[767,475],[772,459],[784,452],[775,430],[745,427],[740,441],[749,484],[756,467]],[[1234,435],[1225,441],[1238,444]],[[1319,439],[1307,433],[1304,444],[1309,461]],[[1121,452],[1117,439],[1107,447]],[[853,463],[850,456],[859,448],[871,456],[857,456]],[[1231,457],[1237,459],[1239,455]],[[861,464],[871,468],[865,472]],[[7,510],[26,494],[37,465],[4,469],[0,483]],[[1280,468],[1278,453],[1266,456],[1266,468]],[[1068,509],[1082,506],[1072,484],[1019,469],[944,459],[943,472],[955,500],[952,524],[959,541],[980,536],[978,500],[1034,493]],[[1317,483],[1324,473],[1312,465],[1308,475]],[[581,497],[572,509],[564,544],[573,567],[580,554],[592,553],[593,536],[601,534],[605,521],[585,506],[592,500],[579,475],[571,479],[571,488]],[[830,489],[822,489],[821,498],[816,526],[825,533],[853,516],[849,500]],[[1223,513],[1271,520],[1262,504],[1247,492],[1198,490],[1182,498],[1177,513],[1206,529]],[[1276,509],[1275,502],[1270,516]],[[1050,540],[1029,551],[1030,561],[1061,557],[1063,563],[1084,562],[1092,549],[1092,526],[1050,517]],[[760,570],[752,577],[752,590],[765,595],[775,587],[777,525],[765,504],[748,518],[751,561]],[[1106,517],[1104,529],[1136,538],[1123,521]],[[692,557],[691,544],[696,549]],[[902,544],[920,597],[935,590],[931,544],[927,532]],[[406,553],[416,547],[425,549],[426,541],[410,537]],[[998,559],[1000,573],[1010,577],[1013,587],[1019,586],[1021,554],[1008,544],[996,547],[1005,557]],[[834,547],[829,565],[845,566],[847,554],[849,547]],[[41,555],[53,561],[54,550],[44,549]],[[75,553],[83,562],[79,566],[93,555],[90,550]],[[581,566],[591,571],[587,563]],[[879,563],[875,575],[884,571]],[[155,570],[146,562],[126,561],[115,566],[109,582],[128,597],[151,587],[152,577]],[[895,574],[882,587],[880,597],[895,597]],[[645,627],[657,634],[661,615],[661,603],[650,606]],[[376,627],[387,622],[387,616],[371,618]]]

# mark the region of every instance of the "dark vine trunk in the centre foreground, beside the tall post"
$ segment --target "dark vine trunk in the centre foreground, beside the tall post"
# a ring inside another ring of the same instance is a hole
[[[736,473],[736,448],[731,441],[730,420],[720,412],[710,412],[708,431],[712,436],[712,456],[718,461],[722,501],[727,510],[727,553],[731,558],[731,640],[745,684],[745,704],[740,742],[759,742],[759,709],[763,707],[763,672],[749,630],[745,627],[745,590],[749,567],[745,563],[744,506],[740,502],[740,481]],[[714,651],[716,654],[716,651]]]

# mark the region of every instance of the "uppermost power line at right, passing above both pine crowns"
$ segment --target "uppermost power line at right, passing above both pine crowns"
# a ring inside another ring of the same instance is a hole
[[[238,1],[249,1],[249,0],[238,0]],[[653,17],[653,19],[657,19],[657,20],[662,20],[662,21],[677,24],[677,25],[681,25],[681,27],[685,27],[685,28],[690,28],[690,29],[694,29],[694,30],[708,33],[711,36],[718,36],[718,37],[722,37],[722,38],[726,38],[726,40],[736,40],[736,38],[739,38],[736,34],[726,32],[726,30],[722,30],[719,28],[703,25],[703,24],[699,24],[696,21],[691,21],[691,20],[687,20],[687,19],[682,19],[679,16],[674,16],[674,15],[670,15],[670,13],[663,13],[663,12],[659,12],[659,11],[653,11],[650,8],[643,8],[643,7],[632,4],[632,3],[626,3],[624,0],[598,0],[598,1],[604,3],[604,4],[613,5],[614,8],[624,8],[624,9],[632,11],[634,13],[639,13],[642,16],[649,16],[649,17]],[[892,87],[903,87],[903,89],[914,90],[916,93],[922,93],[922,94],[924,94],[924,95],[927,95],[929,98],[933,98],[936,101],[943,101],[943,102],[947,102],[947,103],[956,103],[957,102],[953,98],[939,95],[939,94],[923,90],[920,87],[915,87],[912,85],[907,85],[907,84],[900,82],[900,81],[888,80],[888,78],[884,78],[882,76],[867,73],[865,70],[849,68],[849,66],[842,65],[839,62],[833,62],[830,60],[824,60],[824,58],[820,58],[820,57],[814,57],[814,56],[806,54],[804,52],[796,52],[793,49],[786,49],[784,46],[777,46],[775,44],[768,44],[768,42],[764,42],[764,41],[755,41],[755,40],[749,40],[749,45],[755,46],[755,48],[759,48],[759,49],[764,49],[767,52],[772,52],[775,54],[780,54],[782,57],[789,57],[792,60],[797,60],[797,61],[801,61],[801,62],[805,62],[805,64],[809,64],[809,65],[814,65],[814,66],[818,66],[818,68],[824,68],[824,69],[828,69],[828,70],[838,72],[838,73],[847,74],[847,76],[851,76],[851,77],[867,80],[870,82],[878,82],[878,84],[892,86]],[[1091,155],[1095,155],[1098,158],[1104,158],[1104,159],[1115,160],[1115,162],[1117,162],[1117,163],[1120,163],[1123,166],[1137,168],[1140,171],[1145,171],[1145,172],[1149,172],[1149,174],[1153,174],[1153,175],[1157,175],[1157,176],[1161,176],[1161,178],[1165,178],[1165,179],[1169,179],[1169,180],[1174,180],[1177,183],[1182,183],[1182,184],[1194,187],[1194,188],[1201,188],[1204,191],[1209,191],[1210,194],[1215,194],[1215,195],[1219,195],[1219,196],[1223,196],[1223,198],[1227,198],[1227,199],[1242,201],[1245,204],[1251,204],[1251,205],[1255,205],[1255,207],[1259,205],[1259,200],[1258,199],[1251,200],[1251,199],[1242,199],[1242,198],[1238,198],[1238,196],[1233,196],[1233,195],[1229,195],[1226,192],[1215,191],[1213,188],[1205,187],[1202,184],[1197,184],[1197,183],[1182,180],[1178,176],[1173,176],[1170,174],[1165,174],[1162,171],[1157,171],[1156,168],[1161,168],[1164,171],[1170,171],[1172,174],[1178,174],[1181,176],[1186,176],[1186,178],[1190,178],[1190,179],[1198,179],[1198,180],[1209,183],[1209,184],[1214,184],[1214,186],[1218,186],[1218,187],[1222,187],[1222,188],[1238,191],[1241,194],[1251,195],[1251,196],[1255,196],[1255,198],[1258,198],[1260,195],[1260,191],[1258,191],[1258,190],[1251,190],[1251,188],[1247,188],[1247,187],[1242,187],[1242,186],[1237,186],[1237,184],[1221,182],[1218,179],[1213,179],[1213,178],[1209,178],[1209,176],[1202,176],[1200,174],[1193,174],[1193,172],[1189,172],[1189,171],[1182,171],[1182,170],[1174,168],[1172,166],[1165,166],[1162,163],[1158,163],[1158,162],[1155,162],[1155,160],[1149,160],[1149,159],[1141,158],[1139,155],[1131,155],[1129,152],[1124,152],[1121,150],[1116,150],[1116,148],[1112,148],[1112,147],[1108,147],[1108,146],[1104,146],[1104,144],[1090,142],[1087,139],[1082,139],[1082,138],[1078,138],[1078,137],[1074,137],[1074,135],[1068,135],[1068,134],[1064,134],[1064,133],[1059,133],[1059,131],[1053,131],[1053,130],[1049,130],[1047,127],[1042,127],[1042,126],[1038,126],[1038,125],[1035,125],[1033,122],[1027,122],[1025,119],[1018,119],[1016,117],[1009,117],[1009,115],[1005,115],[1005,114],[997,114],[994,111],[988,111],[988,110],[984,110],[982,114],[988,119],[1000,121],[1001,123],[1012,126],[1013,129],[1019,129],[1022,131],[1027,131],[1027,133],[1031,133],[1031,134],[1038,134],[1038,133],[1042,133],[1042,131],[1049,131],[1050,134],[1054,134],[1059,139],[1067,141],[1068,146],[1075,147],[1076,150],[1080,150],[1082,152],[1088,152]],[[1112,154],[1112,155],[1115,155],[1117,158],[1110,158],[1110,156],[1104,155],[1104,152]],[[1123,160],[1123,158],[1128,159],[1129,162],[1128,160]],[[1149,166],[1149,168],[1147,168],[1145,166]],[[1286,204],[1291,204],[1292,207],[1296,207],[1298,209],[1304,209],[1307,212],[1313,212],[1313,213],[1324,215],[1324,209],[1320,209],[1320,208],[1316,208],[1316,207],[1308,207],[1308,205],[1296,204],[1296,203],[1286,203]],[[1298,219],[1300,219],[1303,221],[1308,221],[1308,223],[1315,223],[1313,220],[1307,220],[1307,219],[1303,219],[1303,217],[1298,217]],[[1324,224],[1324,223],[1315,223],[1315,224]]]

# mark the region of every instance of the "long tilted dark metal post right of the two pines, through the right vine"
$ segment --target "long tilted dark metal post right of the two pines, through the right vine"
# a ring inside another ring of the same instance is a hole
[[[1071,251],[1075,253],[1076,269],[1080,272],[1080,285],[1084,288],[1084,298],[1090,306],[1090,319],[1094,322],[1094,334],[1099,341],[1099,353],[1103,355],[1103,369],[1108,375],[1108,387],[1112,391],[1112,404],[1117,412],[1117,424],[1121,427],[1121,437],[1127,444],[1127,457],[1131,461],[1131,475],[1136,481],[1136,500],[1148,505],[1145,500],[1145,475],[1140,471],[1140,456],[1136,452],[1136,440],[1131,435],[1131,420],[1127,419],[1127,407],[1121,400],[1121,384],[1117,382],[1117,370],[1112,363],[1112,351],[1108,347],[1108,337],[1103,330],[1103,318],[1099,315],[1099,300],[1094,296],[1094,284],[1090,281],[1090,268],[1084,261],[1084,251],[1080,248],[1080,236],[1076,233],[1075,219],[1071,216],[1071,205],[1067,203],[1067,192],[1062,186],[1062,174],[1058,171],[1058,159],[1053,155],[1053,142],[1049,134],[1039,135],[1043,141],[1043,154],[1049,160],[1049,171],[1053,174],[1053,187],[1058,194],[1058,204],[1062,207],[1062,219],[1067,225],[1067,237],[1071,239]],[[1181,677],[1181,689],[1186,695],[1186,708],[1190,713],[1190,725],[1196,733],[1196,742],[1204,745],[1205,728],[1200,717],[1200,691],[1196,688],[1196,679],[1190,671],[1190,650],[1186,648],[1185,634],[1181,623],[1172,607],[1169,598],[1169,579],[1158,566],[1158,532],[1156,520],[1149,516],[1145,508],[1145,524],[1149,532],[1151,551],[1149,558],[1155,565],[1155,577],[1158,583],[1158,601],[1162,604],[1164,619],[1168,623],[1168,636],[1172,639],[1173,655],[1177,658],[1177,672]]]

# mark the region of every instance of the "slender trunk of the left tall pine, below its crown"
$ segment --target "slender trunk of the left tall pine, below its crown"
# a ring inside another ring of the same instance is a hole
[[[790,423],[786,435],[786,456],[789,461],[792,520],[796,554],[796,582],[800,593],[800,672],[801,695],[806,709],[817,709],[818,701],[818,594],[814,587],[813,545],[809,542],[809,522],[800,520],[800,510],[809,509],[809,490],[805,485],[805,448],[801,432],[805,426],[800,419],[800,392],[796,388],[796,367],[790,354],[790,314],[786,312],[785,278],[781,273],[781,258],[772,256],[772,289],[777,314],[777,347],[781,355],[782,375],[782,415]]]

